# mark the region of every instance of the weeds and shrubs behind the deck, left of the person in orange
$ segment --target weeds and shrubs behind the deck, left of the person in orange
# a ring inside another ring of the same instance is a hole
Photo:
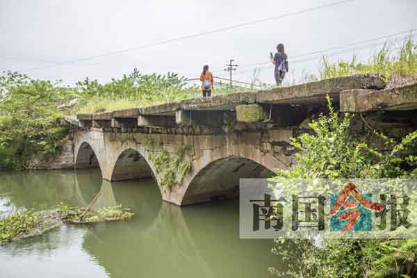
[[[137,108],[202,95],[199,85],[189,86],[186,79],[177,74],[140,74],[137,69],[129,75],[125,74],[122,79],[112,79],[106,84],[85,79],[77,83],[77,89],[82,93],[82,97],[72,110],[74,113]],[[227,94],[242,90],[244,88],[223,85],[213,93]]]

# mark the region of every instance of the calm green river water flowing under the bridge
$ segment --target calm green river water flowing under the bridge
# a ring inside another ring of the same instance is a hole
[[[123,204],[129,222],[63,225],[0,246],[0,277],[271,277],[272,240],[239,238],[238,200],[179,207],[152,179],[103,181],[97,170],[0,173],[0,218],[56,204]]]

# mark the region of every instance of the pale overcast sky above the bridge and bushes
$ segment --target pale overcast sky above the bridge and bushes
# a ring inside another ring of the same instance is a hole
[[[230,58],[241,66],[267,62],[270,51],[282,42],[291,71],[300,79],[303,72],[318,70],[320,55],[302,57],[309,61],[297,63],[300,58],[291,61],[291,57],[417,28],[416,0],[355,0],[221,33],[54,66],[338,1],[0,0],[0,70],[18,70],[37,79],[63,79],[70,85],[85,76],[102,82],[120,78],[134,67],[145,73],[177,72],[191,79],[208,64],[215,76],[227,76],[222,69]],[[332,58],[355,53],[365,59],[375,51],[369,45],[382,42],[361,44]],[[272,65],[261,67],[261,79],[273,83]],[[252,70],[238,69],[234,79],[250,81]]]

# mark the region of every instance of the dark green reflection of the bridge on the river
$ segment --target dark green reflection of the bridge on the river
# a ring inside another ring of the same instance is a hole
[[[95,209],[122,203],[135,213],[84,236],[83,249],[112,277],[233,277],[245,265],[247,277],[262,277],[277,264],[269,241],[239,239],[237,202],[181,208],[162,202],[152,180],[103,180],[100,192]]]

